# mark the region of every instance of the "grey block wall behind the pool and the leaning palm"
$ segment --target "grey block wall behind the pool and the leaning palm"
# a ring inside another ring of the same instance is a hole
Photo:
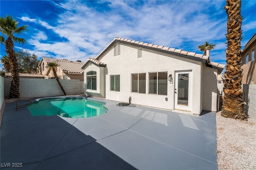
[[[67,95],[84,94],[84,82],[60,80]],[[10,78],[4,78],[4,98],[9,97]],[[37,98],[64,95],[55,79],[20,78],[20,97]]]

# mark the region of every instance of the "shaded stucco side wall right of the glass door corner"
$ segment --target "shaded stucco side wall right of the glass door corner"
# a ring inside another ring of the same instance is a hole
[[[203,67],[203,110],[217,111],[217,70],[213,68]]]

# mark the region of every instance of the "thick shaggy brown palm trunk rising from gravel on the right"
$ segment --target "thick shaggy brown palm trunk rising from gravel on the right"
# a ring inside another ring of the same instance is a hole
[[[227,118],[247,120],[242,99],[241,40],[242,16],[241,0],[226,0],[227,44],[226,71],[224,73],[224,98],[221,115]]]

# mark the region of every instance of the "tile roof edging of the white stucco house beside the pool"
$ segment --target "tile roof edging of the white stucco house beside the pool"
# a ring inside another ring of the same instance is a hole
[[[177,55],[177,56],[189,58],[189,59],[192,59],[192,60],[198,60],[198,61],[206,63],[206,66],[208,66],[208,67],[216,68],[217,70],[219,70],[219,73],[225,67],[224,64],[219,64],[217,62],[211,62],[210,61],[210,57],[209,56],[205,56],[204,54],[197,54],[195,52],[188,52],[188,51],[184,51],[184,50],[180,50],[180,49],[176,49],[176,48],[170,48],[170,47],[165,47],[165,46],[158,46],[158,45],[154,45],[154,44],[149,44],[149,43],[145,43],[145,42],[129,40],[129,39],[125,39],[125,38],[119,38],[119,37],[114,38],[114,40],[112,40],[112,42],[110,42],[110,44],[108,44],[108,46],[106,46],[106,48],[104,48],[104,50],[102,50],[102,52],[100,52],[100,54],[98,54],[96,59],[92,60],[93,58],[89,58],[84,63],[84,65],[82,67],[84,67],[87,64],[87,62],[89,62],[89,61],[94,62],[96,64],[98,62],[100,62],[98,60],[100,58],[100,56],[106,50],[108,50],[110,48],[110,46],[112,46],[115,42],[131,44],[131,45],[134,45],[134,46],[140,46],[141,48],[148,48],[148,49],[151,49],[151,50],[156,50],[156,51],[160,51],[160,52],[164,52],[164,53],[168,53],[168,54],[172,54],[172,55]]]

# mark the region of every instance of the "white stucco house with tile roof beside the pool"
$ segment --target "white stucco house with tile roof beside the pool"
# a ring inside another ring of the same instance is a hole
[[[217,74],[224,65],[203,54],[116,37],[82,68],[88,96],[131,97],[132,104],[200,114],[217,110]]]

